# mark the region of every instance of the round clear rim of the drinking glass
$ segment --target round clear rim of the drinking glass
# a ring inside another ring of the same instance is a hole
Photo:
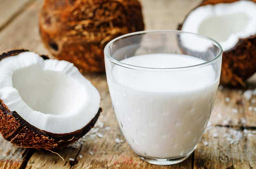
[[[121,62],[121,61],[118,61],[116,59],[114,59],[113,57],[111,57],[108,53],[108,48],[110,47],[110,45],[112,43],[114,43],[116,40],[120,40],[122,38],[125,38],[125,37],[128,37],[128,36],[133,36],[133,35],[138,35],[138,34],[144,34],[144,33],[154,33],[154,32],[159,32],[159,33],[164,33],[164,32],[172,32],[172,33],[178,33],[178,34],[181,34],[181,33],[185,33],[185,34],[190,34],[190,35],[195,35],[195,36],[198,36],[202,39],[206,39],[206,40],[210,40],[215,46],[217,46],[219,48],[219,53],[217,55],[214,56],[214,58],[212,58],[211,60],[209,61],[205,61],[203,63],[200,63],[200,64],[195,64],[195,65],[190,65],[190,66],[183,66],[183,67],[173,67],[173,68],[152,68],[152,67],[142,67],[142,66],[136,66],[136,65],[132,65],[132,64],[127,64],[127,63],[124,63],[124,62]],[[119,36],[111,41],[108,42],[108,44],[105,46],[104,48],[104,57],[106,57],[109,61],[119,65],[119,66],[122,66],[122,67],[125,67],[125,68],[129,68],[129,69],[135,69],[135,70],[151,70],[151,71],[156,71],[156,70],[160,70],[160,71],[165,71],[165,70],[182,70],[182,69],[189,69],[189,68],[197,68],[197,67],[203,67],[203,66],[207,66],[207,65],[210,65],[214,62],[216,62],[220,56],[222,55],[222,47],[220,46],[220,44],[212,39],[212,38],[208,38],[208,37],[205,37],[205,36],[202,36],[202,35],[199,35],[199,34],[196,34],[196,33],[191,33],[191,32],[185,32],[185,31],[180,31],[180,30],[146,30],[146,31],[137,31],[137,32],[133,32],[133,33],[127,33],[127,34],[124,34],[122,36]]]

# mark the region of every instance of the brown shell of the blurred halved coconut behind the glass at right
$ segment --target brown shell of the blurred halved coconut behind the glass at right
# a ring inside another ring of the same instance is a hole
[[[218,3],[232,3],[236,1],[238,0],[204,0],[196,8],[208,4],[215,5]],[[252,1],[256,3],[256,0]],[[178,30],[181,30],[181,28],[182,24],[178,26]],[[256,35],[239,39],[233,48],[223,51],[220,84],[230,87],[245,87],[246,80],[256,72],[255,65]]]

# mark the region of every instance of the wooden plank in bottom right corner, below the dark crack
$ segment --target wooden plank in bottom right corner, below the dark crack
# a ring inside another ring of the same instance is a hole
[[[239,142],[232,143],[234,140]],[[255,145],[256,134],[244,134],[239,128],[212,127],[195,150],[194,169],[255,168]]]

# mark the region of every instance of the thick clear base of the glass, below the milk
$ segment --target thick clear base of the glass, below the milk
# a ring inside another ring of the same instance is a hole
[[[195,147],[195,149],[196,149],[196,147]],[[137,153],[137,152],[135,152],[135,153],[140,157],[140,159],[142,159],[143,161],[146,161],[150,164],[172,165],[172,164],[180,163],[180,162],[184,161],[185,159],[187,159],[194,150],[192,150],[192,151],[188,152],[187,154],[184,154],[180,157],[174,157],[174,158],[152,158],[152,157],[143,156],[143,155],[141,155],[140,153]]]

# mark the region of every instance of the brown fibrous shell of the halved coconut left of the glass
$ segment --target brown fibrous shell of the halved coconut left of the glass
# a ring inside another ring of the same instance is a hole
[[[28,50],[13,50],[3,53],[0,55],[0,61],[5,57],[18,55],[19,53],[26,51]],[[41,57],[49,59],[46,55],[41,55]],[[100,108],[95,117],[82,129],[72,133],[54,134],[36,128],[23,119],[16,111],[10,111],[0,98],[0,132],[4,139],[18,147],[57,149],[65,147],[84,136],[93,128],[101,111],[102,109]]]

